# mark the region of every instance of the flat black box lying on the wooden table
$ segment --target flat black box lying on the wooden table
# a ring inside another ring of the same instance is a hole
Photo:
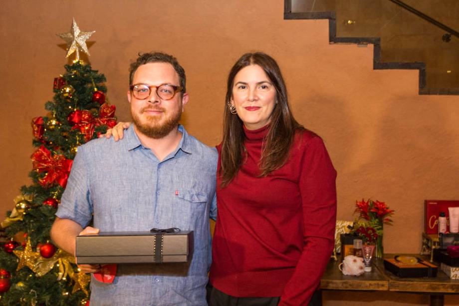
[[[384,260],[384,268],[399,278],[435,278],[438,272],[436,265],[422,260],[419,260],[416,264],[407,265],[397,261],[395,258],[389,258]]]

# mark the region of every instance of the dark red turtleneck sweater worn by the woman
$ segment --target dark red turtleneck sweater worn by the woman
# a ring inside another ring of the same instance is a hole
[[[322,139],[303,130],[287,163],[257,177],[268,127],[244,130],[247,159],[226,188],[217,188],[211,283],[234,297],[307,305],[334,246],[336,171]]]

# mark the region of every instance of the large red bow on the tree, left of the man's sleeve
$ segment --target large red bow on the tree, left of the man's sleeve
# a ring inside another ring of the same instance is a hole
[[[51,152],[44,146],[39,147],[30,156],[30,159],[33,170],[37,170],[39,173],[46,172],[45,176],[38,180],[41,186],[46,187],[57,183],[65,188],[73,160],[66,159],[60,154],[51,156]]]

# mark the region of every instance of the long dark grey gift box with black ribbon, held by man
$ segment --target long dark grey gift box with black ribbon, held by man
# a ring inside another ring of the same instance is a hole
[[[76,237],[78,264],[185,263],[193,256],[193,231],[100,232]]]

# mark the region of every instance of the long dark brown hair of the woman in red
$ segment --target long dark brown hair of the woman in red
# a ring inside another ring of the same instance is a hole
[[[246,53],[232,66],[228,76],[227,96],[223,118],[223,142],[221,152],[221,188],[227,186],[236,176],[245,156],[243,122],[230,113],[228,104],[232,97],[234,77],[242,68],[249,65],[260,66],[276,89],[277,104],[271,114],[270,128],[263,139],[263,151],[259,163],[260,177],[282,167],[288,158],[295,130],[303,128],[290,111],[287,88],[276,61],[263,52]]]

